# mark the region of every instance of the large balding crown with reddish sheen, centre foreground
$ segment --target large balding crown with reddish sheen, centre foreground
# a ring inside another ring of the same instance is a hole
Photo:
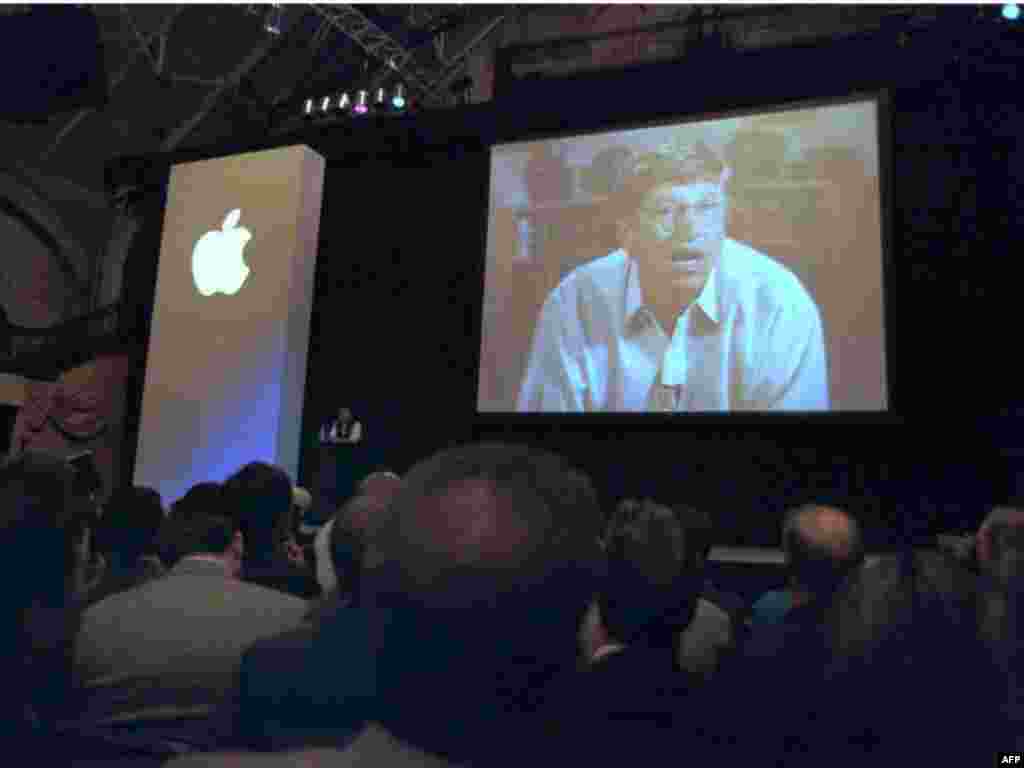
[[[450,579],[482,592],[516,590],[595,556],[600,525],[589,479],[559,457],[469,445],[410,471],[368,567],[397,563],[409,591],[435,596]]]

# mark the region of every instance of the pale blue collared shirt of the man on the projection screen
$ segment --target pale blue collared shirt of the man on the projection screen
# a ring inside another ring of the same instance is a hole
[[[726,240],[670,335],[636,261],[613,251],[545,301],[516,410],[826,411],[821,317],[788,269]]]

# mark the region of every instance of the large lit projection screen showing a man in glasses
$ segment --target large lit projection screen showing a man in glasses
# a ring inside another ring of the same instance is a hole
[[[478,411],[886,411],[879,111],[495,146]]]

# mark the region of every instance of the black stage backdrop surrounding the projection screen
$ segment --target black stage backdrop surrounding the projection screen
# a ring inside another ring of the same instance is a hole
[[[776,545],[781,513],[811,499],[858,513],[871,547],[976,524],[1016,497],[1024,460],[1021,47],[1019,30],[952,24],[709,49],[562,81],[514,81],[499,67],[489,104],[275,141],[328,159],[305,433],[349,406],[367,430],[367,464],[398,471],[468,439],[541,444],[588,470],[606,504],[650,495],[707,508],[720,544]],[[492,143],[879,91],[890,415],[476,415]],[[171,162],[268,145],[123,159],[110,178],[159,187]],[[159,244],[159,217],[151,227]],[[126,295],[152,295],[151,272],[136,267],[143,276]],[[319,461],[313,445],[303,446],[303,482]]]

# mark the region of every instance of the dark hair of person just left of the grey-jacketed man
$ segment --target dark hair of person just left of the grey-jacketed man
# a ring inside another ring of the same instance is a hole
[[[96,527],[96,548],[130,565],[156,551],[163,522],[164,503],[157,490],[137,485],[118,488],[103,507]]]

